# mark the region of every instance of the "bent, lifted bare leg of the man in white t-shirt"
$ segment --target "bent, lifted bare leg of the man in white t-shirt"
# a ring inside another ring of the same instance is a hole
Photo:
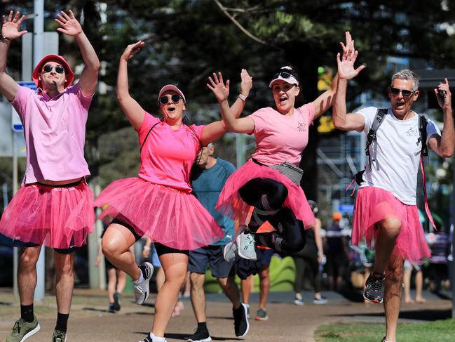
[[[400,234],[401,221],[391,216],[379,221],[377,226],[379,235],[376,241],[373,272],[383,274],[392,254],[393,247],[395,247],[395,240]]]

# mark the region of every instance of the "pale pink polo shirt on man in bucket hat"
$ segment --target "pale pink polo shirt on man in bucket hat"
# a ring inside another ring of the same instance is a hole
[[[83,96],[79,84],[49,98],[18,86],[13,107],[24,126],[27,168],[23,183],[68,180],[90,175],[83,147],[92,96]]]

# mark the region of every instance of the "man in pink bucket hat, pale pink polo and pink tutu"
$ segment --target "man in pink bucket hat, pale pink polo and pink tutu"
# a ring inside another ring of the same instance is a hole
[[[46,55],[32,74],[38,90],[19,86],[5,72],[11,41],[27,33],[19,31],[25,15],[13,14],[3,17],[1,28],[0,91],[24,126],[27,168],[0,220],[0,233],[23,247],[18,269],[21,317],[6,341],[25,341],[40,329],[33,300],[36,261],[45,245],[55,251],[57,324],[52,341],[63,342],[74,287],[73,252],[86,244],[95,218],[83,146],[100,61],[72,11],[62,11],[55,19],[57,31],[74,37],[85,63],[79,82],[72,86],[74,73],[62,56]]]

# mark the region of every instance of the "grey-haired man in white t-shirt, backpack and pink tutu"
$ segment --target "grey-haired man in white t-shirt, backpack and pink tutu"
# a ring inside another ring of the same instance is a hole
[[[378,109],[368,107],[358,113],[346,113],[348,80],[363,69],[354,68],[356,58],[357,51],[337,56],[339,85],[333,122],[337,129],[367,134]],[[376,250],[364,297],[376,303],[384,302],[386,336],[383,342],[396,341],[405,259],[418,263],[421,258],[430,256],[416,206],[417,173],[424,137],[419,131],[419,115],[412,111],[419,97],[418,88],[419,77],[411,70],[393,75],[388,88],[391,107],[377,130],[376,144],[369,145],[369,162],[355,201],[352,242],[358,244],[365,238],[369,247]],[[445,91],[444,98],[438,91]],[[455,130],[447,79],[435,89],[435,95],[444,113],[444,130],[441,134],[434,122],[428,120],[426,143],[441,157],[451,157]]]

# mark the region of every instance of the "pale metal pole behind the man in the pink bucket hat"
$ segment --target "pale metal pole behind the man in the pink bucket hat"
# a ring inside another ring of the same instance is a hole
[[[44,32],[44,0],[34,0],[34,34],[33,34],[33,65],[37,65],[43,58],[43,32]],[[36,263],[36,289],[35,300],[44,299],[44,248],[41,248],[38,262]]]

